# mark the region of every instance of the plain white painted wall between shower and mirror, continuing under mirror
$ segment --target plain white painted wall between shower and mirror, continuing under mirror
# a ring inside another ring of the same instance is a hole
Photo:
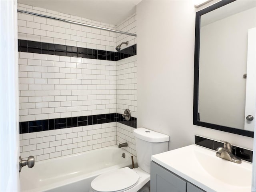
[[[137,6],[137,127],[170,136],[169,150],[194,134],[252,149],[253,138],[193,125],[193,1],[142,1]]]

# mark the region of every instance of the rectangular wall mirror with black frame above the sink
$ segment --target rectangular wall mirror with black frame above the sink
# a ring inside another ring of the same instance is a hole
[[[255,36],[254,0],[222,0],[196,12],[194,125],[253,137]]]

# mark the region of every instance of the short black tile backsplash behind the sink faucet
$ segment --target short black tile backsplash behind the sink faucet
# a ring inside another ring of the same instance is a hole
[[[214,141],[197,135],[195,135],[195,144],[212,150],[216,150],[218,147],[223,147],[223,142]],[[232,153],[242,160],[252,162],[252,150],[232,146]]]

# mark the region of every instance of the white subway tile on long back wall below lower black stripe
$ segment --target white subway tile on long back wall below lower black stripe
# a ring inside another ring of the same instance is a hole
[[[116,145],[116,122],[20,134],[20,155],[36,161]]]

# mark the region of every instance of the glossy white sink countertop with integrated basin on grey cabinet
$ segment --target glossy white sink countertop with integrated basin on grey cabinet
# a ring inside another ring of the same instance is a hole
[[[252,164],[236,164],[216,152],[190,145],[151,157],[151,160],[205,191],[251,192]]]

